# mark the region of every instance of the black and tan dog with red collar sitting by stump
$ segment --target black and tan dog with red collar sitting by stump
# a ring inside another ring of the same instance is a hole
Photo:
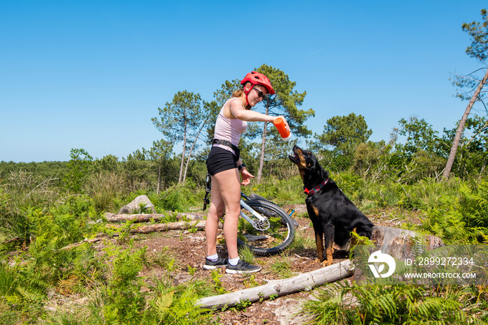
[[[305,192],[308,194],[305,203],[314,225],[319,261],[323,266],[328,266],[332,264],[334,242],[346,247],[350,242],[351,232],[369,238],[374,225],[344,195],[335,181],[329,179],[328,172],[310,151],[293,146],[293,155],[289,159],[298,166]]]

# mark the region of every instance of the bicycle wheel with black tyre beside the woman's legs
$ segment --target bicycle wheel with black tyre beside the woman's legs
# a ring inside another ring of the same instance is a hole
[[[239,245],[250,248],[257,255],[272,255],[281,252],[291,244],[295,236],[295,228],[290,217],[275,204],[261,200],[245,201],[254,211],[268,218],[261,230],[255,229],[244,218],[239,218]],[[256,218],[250,211],[241,207],[241,212],[252,220]]]

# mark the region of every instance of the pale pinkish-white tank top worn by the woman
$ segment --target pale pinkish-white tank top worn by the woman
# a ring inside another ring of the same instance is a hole
[[[247,122],[240,119],[229,119],[224,115],[224,107],[231,100],[240,99],[236,97],[230,98],[225,102],[224,106],[222,106],[222,109],[220,109],[219,115],[217,116],[217,122],[215,123],[214,137],[215,139],[230,141],[231,144],[238,146],[241,141],[241,135],[247,130]],[[234,153],[234,150],[223,144],[214,144],[213,146],[218,146]]]

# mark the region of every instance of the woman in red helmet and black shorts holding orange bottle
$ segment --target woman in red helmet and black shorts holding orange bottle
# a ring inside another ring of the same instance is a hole
[[[273,122],[277,117],[250,110],[264,96],[275,93],[262,73],[247,73],[241,81],[243,87],[234,91],[224,104],[215,123],[215,139],[208,154],[207,169],[211,174],[211,204],[206,220],[207,257],[204,269],[227,266],[227,273],[252,273],[261,266],[251,265],[239,258],[237,251],[237,225],[241,212],[241,184],[248,185],[254,177],[247,171],[237,148],[247,121]],[[241,176],[239,176],[239,173]],[[242,182],[241,182],[242,177]],[[225,213],[224,236],[229,259],[217,254],[218,220]]]

